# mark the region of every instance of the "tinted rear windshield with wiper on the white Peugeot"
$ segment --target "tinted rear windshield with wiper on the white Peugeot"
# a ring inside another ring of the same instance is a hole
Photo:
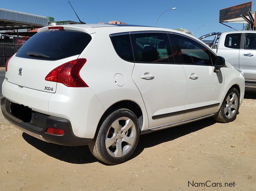
[[[84,32],[47,31],[30,38],[16,56],[39,60],[55,61],[80,55],[92,37]]]

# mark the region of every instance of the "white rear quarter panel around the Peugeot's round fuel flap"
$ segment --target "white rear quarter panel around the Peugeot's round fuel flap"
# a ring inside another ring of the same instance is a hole
[[[145,104],[131,78],[134,63],[124,61],[116,54],[109,37],[111,30],[109,29],[108,33],[105,28],[113,27],[104,27],[104,30],[97,30],[92,34],[94,43],[87,46],[81,53],[80,58],[86,58],[87,61],[80,70],[80,76],[98,97],[105,110],[122,100],[130,100],[138,104],[143,113],[142,130],[147,129],[149,124]],[[101,43],[102,41],[104,43]],[[98,46],[99,44],[101,46]],[[101,52],[100,56],[95,56],[96,52]],[[114,80],[116,74],[121,74],[125,79],[122,87],[118,86]]]

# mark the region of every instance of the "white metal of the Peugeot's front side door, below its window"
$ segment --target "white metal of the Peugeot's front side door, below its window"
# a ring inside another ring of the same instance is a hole
[[[213,66],[182,66],[185,69],[188,87],[186,110],[216,104],[214,107],[185,113],[183,119],[190,119],[206,113],[216,112],[218,108],[217,104],[221,103],[224,90],[224,74],[222,69],[220,69],[220,72],[215,73]],[[188,77],[189,75],[197,75],[198,78],[191,79]]]

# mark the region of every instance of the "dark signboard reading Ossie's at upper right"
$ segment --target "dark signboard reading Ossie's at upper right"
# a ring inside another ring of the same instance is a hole
[[[253,2],[250,1],[226,9],[220,9],[220,22],[224,22],[234,18],[239,18],[241,17],[241,14],[247,14],[247,12],[251,12],[252,7]]]

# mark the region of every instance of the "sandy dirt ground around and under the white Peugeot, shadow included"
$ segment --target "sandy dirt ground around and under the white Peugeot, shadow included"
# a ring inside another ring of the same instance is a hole
[[[131,159],[115,166],[98,162],[87,146],[22,133],[1,114],[0,191],[16,190],[255,191],[256,90],[246,90],[234,122],[208,118],[142,135]]]

